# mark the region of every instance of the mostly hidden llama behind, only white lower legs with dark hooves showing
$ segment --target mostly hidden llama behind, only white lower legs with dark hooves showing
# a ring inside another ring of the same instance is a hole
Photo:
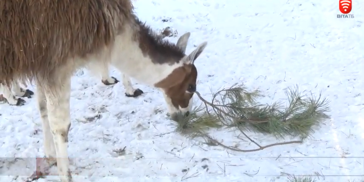
[[[105,85],[113,85],[119,82],[118,79],[116,79],[113,76],[108,76],[108,69],[103,70],[106,72],[101,73],[101,82]],[[127,97],[138,97],[139,95],[142,95],[144,92],[140,90],[139,88],[134,89],[131,84],[131,79],[122,74],[123,76],[123,86],[125,87],[125,96]],[[15,92],[15,95],[13,92]],[[34,92],[29,89],[24,89],[20,87],[19,82],[13,82],[12,83],[12,89],[9,89],[9,87],[6,87],[4,84],[0,84],[0,93],[2,93],[3,98],[5,101],[11,105],[11,106],[23,106],[25,104],[25,100],[21,97],[27,97],[32,98],[32,95],[34,95]],[[18,98],[16,98],[18,97]]]

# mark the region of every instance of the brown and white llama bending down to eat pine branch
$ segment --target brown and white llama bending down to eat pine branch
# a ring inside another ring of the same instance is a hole
[[[73,181],[67,149],[76,70],[111,64],[159,88],[172,119],[191,110],[194,62],[207,42],[185,54],[189,32],[170,43],[133,11],[131,0],[0,1],[0,82],[9,88],[14,80],[36,84],[44,152],[56,163],[61,182]]]

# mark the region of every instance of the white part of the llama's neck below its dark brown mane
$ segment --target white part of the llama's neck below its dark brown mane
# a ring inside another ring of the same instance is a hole
[[[166,78],[171,72],[181,67],[182,63],[156,64],[149,56],[143,55],[139,43],[132,40],[128,32],[118,35],[111,52],[111,64],[139,82],[154,86]]]

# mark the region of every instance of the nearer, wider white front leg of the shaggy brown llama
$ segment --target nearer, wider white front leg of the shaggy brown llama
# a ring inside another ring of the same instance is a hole
[[[71,182],[70,161],[68,159],[68,131],[71,126],[70,95],[71,78],[57,79],[52,89],[45,89],[48,120],[53,134],[57,154],[58,174],[61,182]]]

